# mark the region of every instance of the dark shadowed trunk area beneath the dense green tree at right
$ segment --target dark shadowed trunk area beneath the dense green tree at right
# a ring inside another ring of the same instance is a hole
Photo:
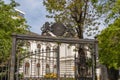
[[[107,68],[107,72],[108,72],[108,79],[109,80],[118,80],[119,70],[112,67],[112,68]]]

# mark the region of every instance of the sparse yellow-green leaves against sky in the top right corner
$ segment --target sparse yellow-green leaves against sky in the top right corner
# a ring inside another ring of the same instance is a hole
[[[97,11],[104,17],[107,24],[111,24],[115,19],[120,18],[120,0],[100,0]]]

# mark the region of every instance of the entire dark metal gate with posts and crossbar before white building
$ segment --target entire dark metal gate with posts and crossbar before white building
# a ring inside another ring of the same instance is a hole
[[[95,80],[96,40],[15,34],[12,37],[10,80]],[[21,42],[24,46],[19,48]],[[80,45],[84,54],[78,53]]]

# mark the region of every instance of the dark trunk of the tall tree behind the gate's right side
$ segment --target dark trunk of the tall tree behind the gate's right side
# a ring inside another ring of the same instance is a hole
[[[83,39],[83,30],[81,25],[78,26],[78,38],[79,39]],[[84,51],[84,45],[79,45],[79,49],[78,49],[78,63],[77,63],[77,67],[78,67],[78,77],[80,80],[85,79],[86,77],[86,71],[87,71],[87,67],[86,67],[86,56],[85,56],[85,51]]]

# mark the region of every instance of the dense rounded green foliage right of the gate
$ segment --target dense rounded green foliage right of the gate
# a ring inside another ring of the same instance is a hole
[[[107,67],[120,67],[120,19],[109,25],[98,36],[100,62]]]

